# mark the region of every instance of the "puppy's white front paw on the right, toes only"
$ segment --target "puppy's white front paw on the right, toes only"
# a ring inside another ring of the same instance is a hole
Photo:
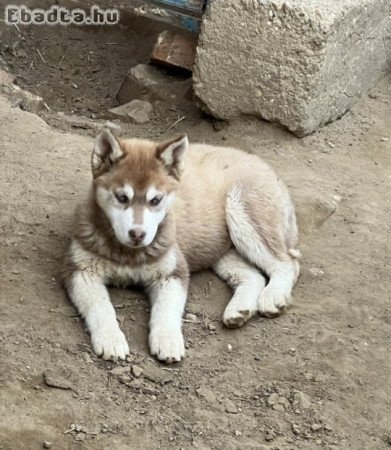
[[[167,364],[179,362],[185,356],[185,343],[181,330],[158,328],[149,334],[149,348],[152,355]]]

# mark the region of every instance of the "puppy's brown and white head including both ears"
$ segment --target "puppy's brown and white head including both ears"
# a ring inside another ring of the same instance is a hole
[[[119,140],[104,130],[95,140],[95,198],[117,240],[131,248],[154,240],[175,199],[188,148],[186,135],[165,142]]]

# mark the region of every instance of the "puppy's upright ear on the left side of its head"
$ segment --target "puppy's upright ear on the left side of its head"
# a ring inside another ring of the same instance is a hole
[[[105,128],[95,139],[91,157],[94,178],[110,169],[111,164],[123,156],[123,150],[115,136]]]

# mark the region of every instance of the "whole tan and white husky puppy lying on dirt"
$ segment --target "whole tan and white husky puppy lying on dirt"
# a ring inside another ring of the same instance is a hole
[[[76,211],[64,267],[68,295],[96,354],[125,359],[106,285],[141,284],[151,302],[149,347],[167,363],[185,355],[189,272],[211,268],[233,289],[223,322],[279,314],[299,275],[297,226],[286,187],[255,155],[233,148],[96,138],[92,186]],[[265,279],[266,277],[266,279]]]

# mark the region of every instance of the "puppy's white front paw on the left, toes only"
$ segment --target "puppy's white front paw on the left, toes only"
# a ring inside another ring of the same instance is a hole
[[[119,327],[105,327],[91,332],[94,352],[103,359],[125,359],[129,355],[129,346]]]

